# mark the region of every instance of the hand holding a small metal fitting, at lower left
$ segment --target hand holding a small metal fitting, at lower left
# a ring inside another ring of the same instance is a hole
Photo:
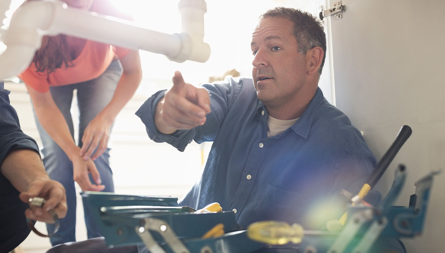
[[[51,209],[56,212],[59,218],[66,215],[65,188],[57,181],[45,178],[36,179],[29,184],[26,192],[20,193],[19,197],[25,203],[28,203],[29,198],[32,197],[42,197],[46,200],[43,207],[33,206],[26,209],[25,216],[30,220],[54,223],[53,216],[48,213]]]

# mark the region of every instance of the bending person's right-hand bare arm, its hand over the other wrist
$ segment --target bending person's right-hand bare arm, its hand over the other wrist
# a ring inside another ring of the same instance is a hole
[[[104,153],[108,145],[111,125],[125,104],[131,99],[142,79],[141,60],[138,51],[130,51],[119,59],[122,76],[117,83],[113,98],[105,108],[91,120],[82,137],[82,149],[78,153],[85,160],[95,160]],[[97,148],[93,155],[94,150]],[[92,156],[93,155],[93,156]]]

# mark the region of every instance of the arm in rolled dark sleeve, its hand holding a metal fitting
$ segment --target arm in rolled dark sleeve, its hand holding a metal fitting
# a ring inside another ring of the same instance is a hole
[[[36,142],[20,129],[17,113],[9,104],[9,91],[0,83],[0,180],[2,188],[13,186],[20,192],[20,200],[28,203],[30,197],[44,197],[47,202],[41,208],[26,210],[32,220],[53,222],[45,210],[54,209],[59,217],[65,217],[65,189],[50,180],[39,155]],[[14,190],[5,191],[14,192]],[[3,203],[2,203],[3,206]]]

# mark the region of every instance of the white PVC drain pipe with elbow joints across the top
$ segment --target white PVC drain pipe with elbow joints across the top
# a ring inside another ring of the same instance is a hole
[[[205,4],[203,0],[182,0],[185,6],[182,11],[183,15],[189,17],[188,20],[198,13],[202,15],[202,21],[199,21],[201,24],[183,24],[188,33],[173,35],[137,27],[126,20],[69,8],[60,1],[32,1],[24,4],[12,17],[4,34],[7,49],[0,55],[0,80],[17,75],[29,66],[36,49],[40,48],[42,35],[59,33],[133,50],[160,53],[178,62],[205,62],[210,56],[210,46],[203,42],[203,15],[206,9],[202,5],[199,12],[190,8],[197,1]],[[193,19],[191,21],[195,22]],[[21,49],[18,50],[18,47]],[[16,61],[16,64],[10,64],[11,61]]]

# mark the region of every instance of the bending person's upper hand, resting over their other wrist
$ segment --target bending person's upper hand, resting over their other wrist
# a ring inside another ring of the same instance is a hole
[[[83,145],[79,153],[85,161],[90,157],[94,161],[104,153],[108,145],[112,124],[113,119],[102,116],[101,113],[88,123],[82,137]],[[96,150],[95,153],[94,150]],[[94,156],[92,157],[93,153]]]

